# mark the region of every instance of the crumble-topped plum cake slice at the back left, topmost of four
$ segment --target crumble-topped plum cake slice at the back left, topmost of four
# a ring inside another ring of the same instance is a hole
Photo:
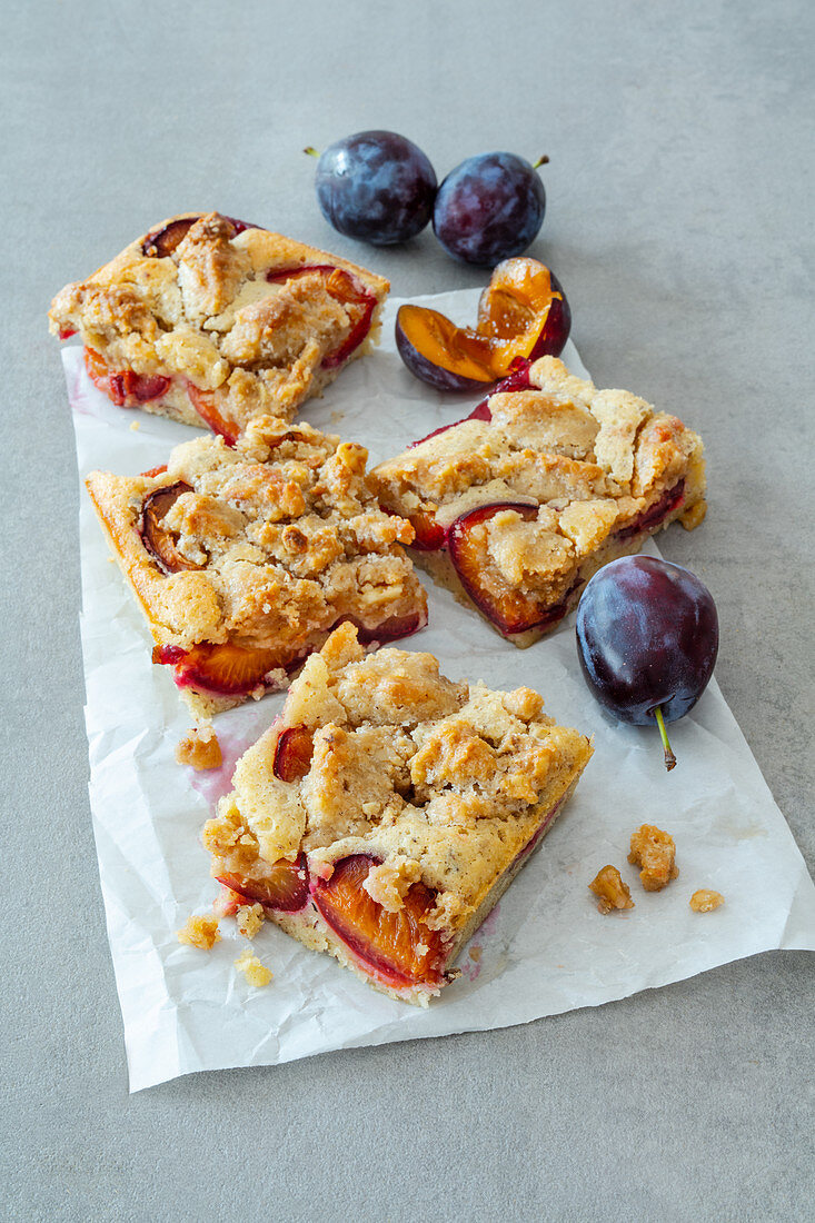
[[[257,415],[291,421],[379,329],[388,281],[220,213],[184,213],[131,242],[49,312],[80,333],[88,374],[228,442]]]

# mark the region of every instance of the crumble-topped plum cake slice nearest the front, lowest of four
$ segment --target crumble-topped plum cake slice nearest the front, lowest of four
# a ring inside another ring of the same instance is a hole
[[[203,833],[212,873],[376,988],[427,1004],[591,756],[531,689],[366,656],[341,625],[237,762]]]

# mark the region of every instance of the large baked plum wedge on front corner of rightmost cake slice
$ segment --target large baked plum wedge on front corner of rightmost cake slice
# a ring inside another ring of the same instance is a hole
[[[486,523],[505,510],[513,510],[525,522],[537,517],[537,505],[520,501],[478,505],[450,526],[447,547],[461,586],[475,605],[499,632],[512,636],[557,623],[565,615],[568,596],[556,607],[545,608],[534,596],[512,589],[489,564]]]

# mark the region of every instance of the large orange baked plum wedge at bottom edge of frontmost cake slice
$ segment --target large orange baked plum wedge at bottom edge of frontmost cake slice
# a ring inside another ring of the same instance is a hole
[[[313,901],[326,923],[374,980],[395,988],[438,986],[444,980],[445,949],[441,933],[423,922],[436,906],[436,893],[423,883],[414,883],[403,907],[389,912],[362,887],[379,861],[371,854],[341,859],[330,879],[312,878]]]

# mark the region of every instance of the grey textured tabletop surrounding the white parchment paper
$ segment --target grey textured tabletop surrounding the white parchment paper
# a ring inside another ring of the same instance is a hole
[[[219,208],[480,284],[432,232],[333,234],[318,148],[404,132],[439,177],[548,153],[532,253],[598,385],[702,433],[717,675],[810,868],[814,9],[735,0],[1,6],[5,1206],[13,1219],[811,1218],[811,959],[525,1027],[191,1076],[132,1098],[87,801],[77,487],[53,294]]]

